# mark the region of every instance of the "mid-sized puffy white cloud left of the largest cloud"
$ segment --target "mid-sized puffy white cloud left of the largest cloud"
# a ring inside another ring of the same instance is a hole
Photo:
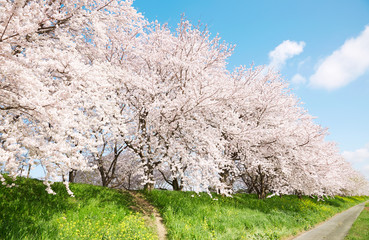
[[[283,41],[273,51],[269,52],[269,68],[281,69],[288,59],[302,53],[304,47],[305,42]]]

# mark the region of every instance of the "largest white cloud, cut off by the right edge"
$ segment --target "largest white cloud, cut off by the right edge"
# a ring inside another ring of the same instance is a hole
[[[310,85],[328,90],[343,87],[369,70],[369,26],[323,60]]]

